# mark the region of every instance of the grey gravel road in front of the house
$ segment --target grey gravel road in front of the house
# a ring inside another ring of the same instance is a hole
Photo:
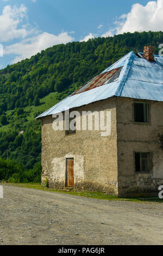
[[[163,245],[163,202],[98,200],[3,185],[0,245]]]

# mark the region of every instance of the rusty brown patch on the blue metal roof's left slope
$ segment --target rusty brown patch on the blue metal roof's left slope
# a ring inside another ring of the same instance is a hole
[[[104,73],[94,77],[88,83],[84,84],[84,86],[82,86],[78,90],[76,90],[76,92],[74,92],[72,95],[83,93],[83,92],[86,92],[87,90],[91,90],[93,88],[103,86],[103,84],[111,83],[111,82],[115,81],[118,78],[118,76],[120,75],[122,68],[123,67],[121,66],[120,68],[112,69],[108,72],[104,72]]]

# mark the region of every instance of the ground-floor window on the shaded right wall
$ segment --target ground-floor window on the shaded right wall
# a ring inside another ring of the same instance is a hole
[[[149,153],[135,153],[135,171],[149,172]]]

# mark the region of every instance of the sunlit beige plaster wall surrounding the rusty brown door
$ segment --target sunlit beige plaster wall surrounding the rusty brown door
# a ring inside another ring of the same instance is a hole
[[[101,131],[65,131],[52,129],[52,116],[42,119],[42,183],[65,187],[66,158],[74,158],[74,187],[117,193],[117,132],[116,99],[107,99],[82,106],[82,111],[111,111],[111,135],[102,137]],[[82,121],[81,121],[82,125]]]

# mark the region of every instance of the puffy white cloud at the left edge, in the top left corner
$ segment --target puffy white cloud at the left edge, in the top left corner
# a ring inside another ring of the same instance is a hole
[[[6,5],[0,15],[0,42],[7,42],[16,38],[25,38],[35,29],[27,29],[28,25],[21,25],[24,17],[27,17],[27,8],[21,4],[20,8]]]

